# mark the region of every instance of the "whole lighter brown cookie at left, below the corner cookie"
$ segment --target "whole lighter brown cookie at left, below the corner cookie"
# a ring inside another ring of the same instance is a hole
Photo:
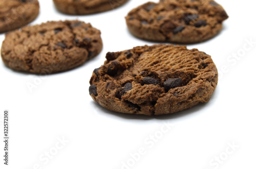
[[[90,23],[52,21],[6,34],[1,55],[18,71],[54,73],[75,68],[102,49],[100,31]]]

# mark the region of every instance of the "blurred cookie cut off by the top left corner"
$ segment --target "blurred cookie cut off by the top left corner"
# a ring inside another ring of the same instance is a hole
[[[0,33],[17,29],[33,21],[39,13],[37,0],[1,0]]]

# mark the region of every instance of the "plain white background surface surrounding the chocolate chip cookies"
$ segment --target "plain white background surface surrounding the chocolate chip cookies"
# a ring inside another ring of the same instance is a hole
[[[52,1],[39,2],[40,14],[31,24],[65,19],[91,22],[101,30],[104,47],[86,64],[48,75],[32,92],[27,83],[38,82],[39,76],[12,71],[0,62],[2,138],[3,112],[10,111],[10,163],[3,164],[1,141],[1,169],[256,167],[256,44],[242,53],[246,39],[256,42],[254,1],[217,1],[229,15],[223,30],[206,42],[188,45],[189,49],[210,54],[218,67],[221,77],[211,100],[160,117],[117,114],[97,105],[88,91],[92,72],[103,64],[106,52],[153,44],[133,37],[124,19],[131,9],[147,0],[130,0],[113,11],[87,16],[64,15],[56,11]],[[0,43],[4,38],[1,34]],[[243,57],[229,57],[238,52]],[[172,127],[168,129],[164,123]],[[150,142],[155,134],[158,139]],[[62,137],[68,143],[55,152]],[[239,147],[232,150],[230,144]],[[137,161],[132,159],[131,153],[141,149],[145,151],[140,159],[138,155]],[[47,151],[54,153],[49,161]],[[216,162],[219,156],[221,161]]]

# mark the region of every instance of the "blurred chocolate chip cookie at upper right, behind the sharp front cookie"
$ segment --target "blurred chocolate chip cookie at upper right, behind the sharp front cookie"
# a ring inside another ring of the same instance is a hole
[[[161,0],[146,3],[126,16],[136,37],[178,43],[196,43],[217,35],[228,16],[211,0]]]

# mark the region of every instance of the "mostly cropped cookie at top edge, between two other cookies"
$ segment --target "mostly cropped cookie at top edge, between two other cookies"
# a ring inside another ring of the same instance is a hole
[[[56,8],[66,14],[85,15],[109,11],[117,8],[128,0],[53,0]]]

